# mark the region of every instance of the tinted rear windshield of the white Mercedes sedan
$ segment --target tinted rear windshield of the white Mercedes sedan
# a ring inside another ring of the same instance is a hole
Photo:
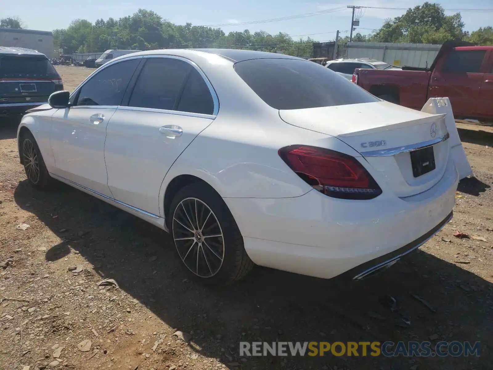
[[[379,102],[346,78],[298,59],[252,59],[235,71],[269,106],[279,110]]]

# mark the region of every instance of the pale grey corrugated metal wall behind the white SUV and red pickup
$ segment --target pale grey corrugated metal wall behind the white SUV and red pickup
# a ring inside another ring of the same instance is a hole
[[[437,44],[349,42],[347,58],[372,58],[399,67],[430,67],[440,47]]]

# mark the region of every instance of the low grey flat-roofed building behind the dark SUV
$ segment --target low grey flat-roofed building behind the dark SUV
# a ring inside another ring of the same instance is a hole
[[[34,49],[48,58],[58,56],[53,45],[53,34],[49,31],[0,28],[0,46]]]

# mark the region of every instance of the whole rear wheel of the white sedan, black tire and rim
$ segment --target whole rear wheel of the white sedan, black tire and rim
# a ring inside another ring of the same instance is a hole
[[[185,209],[188,212],[183,214]],[[210,285],[228,285],[245,277],[253,267],[233,215],[211,186],[193,183],[180,189],[171,203],[168,220],[178,257],[195,280]],[[222,237],[217,236],[219,233]],[[188,239],[177,240],[179,238]],[[199,244],[198,241],[202,242]],[[193,271],[195,266],[197,269]]]

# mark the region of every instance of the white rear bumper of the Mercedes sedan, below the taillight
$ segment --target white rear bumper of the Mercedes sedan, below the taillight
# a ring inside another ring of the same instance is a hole
[[[384,192],[371,200],[344,200],[311,190],[296,198],[224,200],[256,264],[320,278],[355,269],[356,277],[438,232],[452,215],[457,185],[449,160],[436,185],[406,198]]]

